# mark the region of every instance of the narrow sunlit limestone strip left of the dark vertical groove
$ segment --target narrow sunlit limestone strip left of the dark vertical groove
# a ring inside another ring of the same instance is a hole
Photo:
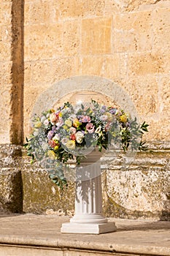
[[[10,89],[11,89],[11,46],[12,46],[12,3],[1,2],[0,4],[0,91],[1,91],[1,127],[7,124],[6,129],[0,130],[1,143],[9,143],[10,122],[9,119],[9,103],[10,103]],[[5,104],[6,103],[6,104]],[[3,119],[2,119],[3,116]]]

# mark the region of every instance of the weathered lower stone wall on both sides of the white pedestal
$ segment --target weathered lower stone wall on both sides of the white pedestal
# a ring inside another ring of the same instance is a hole
[[[107,217],[170,219],[169,143],[152,143],[150,148],[152,153],[134,154],[124,164],[124,158],[112,151],[101,159]],[[61,191],[36,165],[25,164],[22,177],[23,211],[63,215],[74,210],[74,184]]]

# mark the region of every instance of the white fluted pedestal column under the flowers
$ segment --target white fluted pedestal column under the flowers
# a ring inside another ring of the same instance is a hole
[[[102,215],[101,164],[84,163],[77,167],[75,215],[63,223],[61,233],[108,233],[116,231],[115,222]]]

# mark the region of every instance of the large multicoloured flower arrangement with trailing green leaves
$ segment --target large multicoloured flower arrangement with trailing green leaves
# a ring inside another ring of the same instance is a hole
[[[64,167],[70,159],[77,165],[89,148],[109,148],[112,143],[123,151],[147,150],[142,135],[148,124],[137,124],[123,110],[100,105],[91,100],[89,105],[66,102],[57,110],[47,110],[41,116],[34,116],[33,131],[24,145],[31,163],[34,160],[55,163],[50,178],[59,187],[66,184]]]

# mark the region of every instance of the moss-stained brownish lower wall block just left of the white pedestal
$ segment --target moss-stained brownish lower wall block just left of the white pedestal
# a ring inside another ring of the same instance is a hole
[[[61,209],[66,214],[74,209],[74,184],[60,190],[50,180],[46,170],[28,165],[22,170],[22,178],[24,212],[40,214]]]

